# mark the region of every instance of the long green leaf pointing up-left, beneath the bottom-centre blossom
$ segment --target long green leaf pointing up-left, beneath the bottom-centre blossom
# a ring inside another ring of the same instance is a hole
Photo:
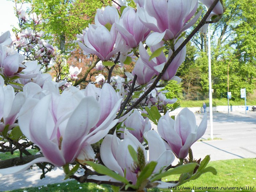
[[[110,170],[108,167],[105,167],[103,165],[99,165],[99,164],[96,164],[94,162],[91,162],[91,161],[86,161],[85,162],[87,165],[93,167],[93,169],[100,173],[100,174],[103,174],[103,175],[107,175],[109,177],[112,177],[114,178],[115,180],[117,181],[121,181],[125,184],[129,184],[129,181],[127,181],[127,179],[125,177],[122,177],[120,175],[118,175],[117,173],[113,172],[112,170]]]

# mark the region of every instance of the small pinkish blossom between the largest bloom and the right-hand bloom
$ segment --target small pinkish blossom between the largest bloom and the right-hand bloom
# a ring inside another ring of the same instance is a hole
[[[144,119],[138,110],[134,110],[134,112],[127,117],[127,119],[124,121],[124,125],[125,127],[134,129],[130,130],[129,132],[135,136],[140,143],[143,143],[144,141],[144,133],[151,129],[149,118]],[[121,136],[123,137],[124,135],[121,134]]]

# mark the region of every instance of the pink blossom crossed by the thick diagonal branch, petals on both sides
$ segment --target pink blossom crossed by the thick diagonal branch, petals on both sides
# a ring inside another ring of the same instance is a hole
[[[184,41],[183,38],[178,39],[176,44],[174,45],[174,49],[176,50],[181,45],[181,43],[183,41]],[[158,48],[160,48],[162,46],[163,46],[163,42],[160,42],[157,45],[152,46],[150,48],[151,52],[154,52],[155,50],[157,50]],[[147,67],[150,67],[155,72],[156,75],[158,75],[162,71],[167,60],[173,54],[172,49],[169,49],[169,54],[168,54],[167,58],[166,58],[165,54],[163,52],[161,52],[161,54],[158,57],[155,57],[149,61],[150,56],[148,55],[148,53],[142,43],[140,43],[139,52],[140,52],[140,58],[142,59],[143,63]],[[172,78],[174,78],[178,67],[180,67],[180,65],[185,60],[185,56],[186,56],[186,46],[173,59],[172,63],[169,65],[169,67],[167,68],[167,70],[165,71],[165,73],[163,74],[161,79],[171,80]]]

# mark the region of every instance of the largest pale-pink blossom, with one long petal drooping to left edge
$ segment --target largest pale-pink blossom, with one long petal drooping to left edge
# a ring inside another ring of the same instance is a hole
[[[118,119],[114,118],[122,101],[109,84],[103,85],[99,97],[93,90],[96,90],[93,85],[84,91],[69,87],[61,95],[50,93],[41,99],[27,99],[20,109],[19,126],[44,157],[25,165],[0,169],[0,173],[18,173],[37,162],[60,167],[75,160],[80,163],[93,161],[95,154],[91,144],[116,125]]]

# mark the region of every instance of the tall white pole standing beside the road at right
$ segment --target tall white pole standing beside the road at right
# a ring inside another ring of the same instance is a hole
[[[209,63],[210,131],[211,131],[211,140],[213,140],[212,87],[211,87],[211,38],[210,38],[210,24],[208,25],[208,63]]]

